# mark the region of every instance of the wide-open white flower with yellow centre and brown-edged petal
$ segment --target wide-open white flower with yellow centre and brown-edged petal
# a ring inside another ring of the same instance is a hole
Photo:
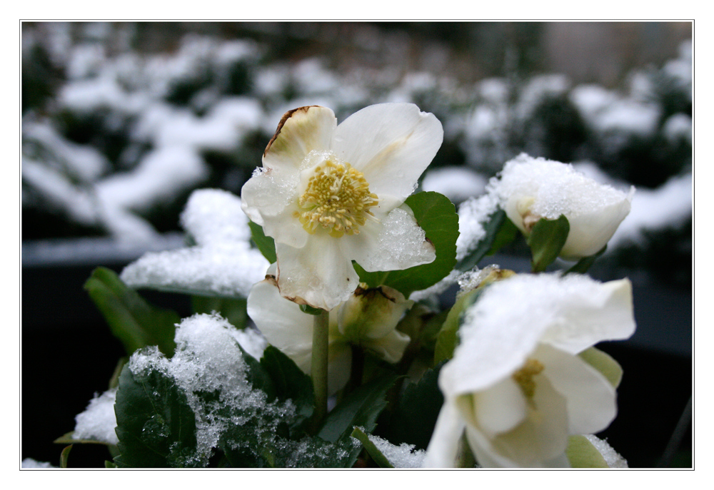
[[[243,185],[243,211],[275,239],[281,295],[331,310],[365,270],[432,262],[434,247],[403,205],[443,129],[410,103],[363,108],[337,126],[328,108],[283,116],[263,168]]]

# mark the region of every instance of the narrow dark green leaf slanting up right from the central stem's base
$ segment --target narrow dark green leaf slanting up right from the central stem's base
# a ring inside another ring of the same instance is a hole
[[[353,427],[363,427],[367,432],[372,432],[377,417],[387,406],[386,393],[397,378],[396,374],[385,374],[348,394],[327,414],[318,437],[337,442],[349,438]]]

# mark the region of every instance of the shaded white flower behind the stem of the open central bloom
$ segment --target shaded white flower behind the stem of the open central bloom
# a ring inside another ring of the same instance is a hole
[[[306,374],[311,371],[313,316],[281,297],[275,265],[248,295],[248,315],[274,347],[293,359]],[[358,288],[347,302],[331,310],[328,333],[328,393],[341,389],[350,377],[351,344],[361,345],[387,362],[398,362],[409,336],[396,330],[413,301],[391,287]]]

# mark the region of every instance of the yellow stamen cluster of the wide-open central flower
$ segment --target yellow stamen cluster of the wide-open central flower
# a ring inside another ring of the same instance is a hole
[[[369,192],[363,173],[349,163],[327,158],[313,170],[298,200],[303,212],[295,214],[308,233],[320,226],[340,238],[359,233],[359,227],[374,218],[369,208],[377,204],[377,195]]]

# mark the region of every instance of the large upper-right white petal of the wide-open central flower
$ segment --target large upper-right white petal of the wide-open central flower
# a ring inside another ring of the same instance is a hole
[[[442,141],[443,129],[433,114],[411,103],[383,103],[343,121],[331,149],[364,173],[371,192],[403,201]]]

